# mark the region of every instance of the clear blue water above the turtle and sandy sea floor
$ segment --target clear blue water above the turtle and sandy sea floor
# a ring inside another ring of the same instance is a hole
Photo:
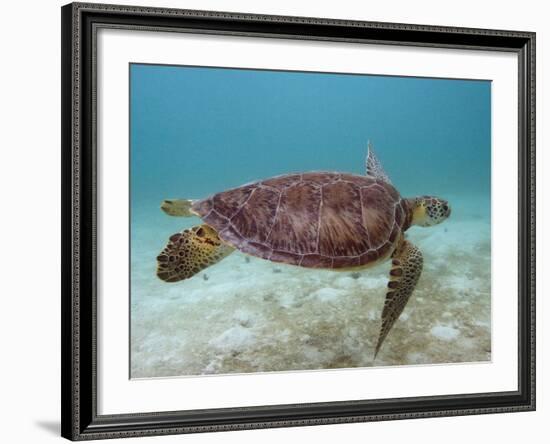
[[[489,193],[491,83],[132,65],[132,202],[292,171],[364,173],[402,194]]]

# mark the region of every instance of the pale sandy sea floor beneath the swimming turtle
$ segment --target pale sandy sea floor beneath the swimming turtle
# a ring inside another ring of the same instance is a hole
[[[157,254],[171,234],[200,220],[168,217],[158,203],[134,209],[131,376],[490,360],[489,202],[448,197],[449,220],[407,232],[424,271],[375,361],[389,263],[318,271],[235,252],[166,284],[155,276]]]

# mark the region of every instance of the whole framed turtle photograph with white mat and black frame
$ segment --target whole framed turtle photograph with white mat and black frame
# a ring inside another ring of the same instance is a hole
[[[535,408],[535,34],[62,8],[62,435]]]

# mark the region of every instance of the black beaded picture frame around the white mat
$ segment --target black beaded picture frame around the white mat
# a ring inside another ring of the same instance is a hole
[[[535,33],[72,3],[62,7],[62,436],[71,440],[535,409]],[[96,101],[98,27],[507,51],[519,66],[518,390],[98,415]]]

